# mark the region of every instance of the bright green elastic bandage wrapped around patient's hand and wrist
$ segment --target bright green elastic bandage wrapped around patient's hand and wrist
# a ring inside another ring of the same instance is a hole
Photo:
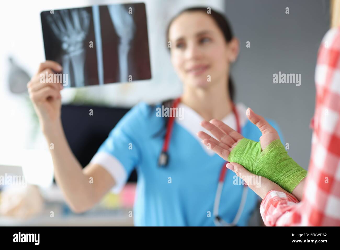
[[[272,141],[262,151],[259,142],[243,138],[229,154],[228,161],[268,178],[289,193],[307,175],[307,171],[289,157],[280,139]]]

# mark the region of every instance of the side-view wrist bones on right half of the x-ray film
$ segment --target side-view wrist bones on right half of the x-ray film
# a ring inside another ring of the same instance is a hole
[[[118,46],[120,82],[126,82],[129,77],[128,53],[130,50],[130,41],[135,35],[136,26],[132,14],[129,14],[124,6],[116,4],[108,5],[107,8],[117,35],[120,37]]]

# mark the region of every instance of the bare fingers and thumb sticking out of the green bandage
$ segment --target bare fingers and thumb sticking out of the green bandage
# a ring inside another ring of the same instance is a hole
[[[253,124],[255,124],[261,131],[262,136],[260,137],[261,149],[265,149],[272,141],[280,139],[277,131],[260,115],[256,114],[251,108],[246,110],[246,115]],[[217,140],[203,131],[197,133],[198,137],[202,139],[204,145],[210,148],[228,161],[229,153],[237,145],[237,143],[243,138],[243,136],[224,124],[220,120],[212,119],[210,122],[202,121],[201,126],[206,130],[210,131]]]

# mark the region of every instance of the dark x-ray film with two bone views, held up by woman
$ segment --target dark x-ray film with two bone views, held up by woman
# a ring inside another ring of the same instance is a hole
[[[66,87],[151,78],[144,3],[41,12],[47,60],[63,66]]]

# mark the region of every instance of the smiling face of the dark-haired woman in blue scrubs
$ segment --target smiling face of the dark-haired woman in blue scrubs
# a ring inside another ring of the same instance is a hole
[[[183,84],[198,88],[216,82],[225,84],[234,55],[209,14],[184,12],[173,20],[168,35],[171,62]]]

